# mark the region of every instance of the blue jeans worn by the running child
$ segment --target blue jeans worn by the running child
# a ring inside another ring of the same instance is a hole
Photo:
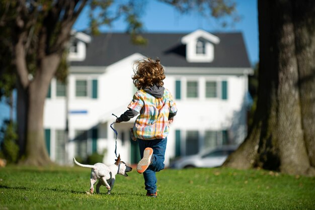
[[[167,138],[154,140],[138,139],[141,159],[143,158],[143,151],[145,148],[150,147],[153,149],[152,162],[143,172],[145,189],[150,194],[156,192],[155,172],[161,171],[165,166],[164,159],[167,141]]]

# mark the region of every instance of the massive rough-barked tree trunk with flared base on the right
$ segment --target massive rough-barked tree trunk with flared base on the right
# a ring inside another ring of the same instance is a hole
[[[223,165],[314,175],[315,1],[259,0],[258,12],[257,111],[248,137]]]

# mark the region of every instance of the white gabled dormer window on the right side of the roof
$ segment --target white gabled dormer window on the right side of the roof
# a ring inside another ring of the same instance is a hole
[[[214,59],[214,45],[220,39],[206,31],[197,30],[181,39],[186,45],[186,60],[191,63],[210,63]]]

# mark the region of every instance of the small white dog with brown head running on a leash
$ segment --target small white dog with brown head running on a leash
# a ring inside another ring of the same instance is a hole
[[[104,185],[108,189],[107,194],[111,193],[111,190],[114,187],[115,176],[116,174],[121,174],[123,176],[128,176],[126,172],[131,171],[132,168],[127,166],[125,162],[120,161],[120,155],[116,162],[113,165],[106,166],[103,163],[96,163],[94,165],[84,165],[75,160],[73,157],[73,161],[76,165],[80,165],[82,167],[91,168],[91,176],[90,176],[90,193],[94,192],[94,184],[97,180],[98,183],[96,185],[96,192],[100,193],[100,186]]]

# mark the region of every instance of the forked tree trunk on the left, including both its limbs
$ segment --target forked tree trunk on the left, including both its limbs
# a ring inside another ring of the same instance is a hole
[[[20,163],[27,165],[51,164],[44,141],[44,103],[50,80],[60,62],[61,53],[42,55],[36,74],[29,78],[26,65],[25,35],[22,33],[15,47],[18,71],[18,125],[19,145],[24,158]]]

